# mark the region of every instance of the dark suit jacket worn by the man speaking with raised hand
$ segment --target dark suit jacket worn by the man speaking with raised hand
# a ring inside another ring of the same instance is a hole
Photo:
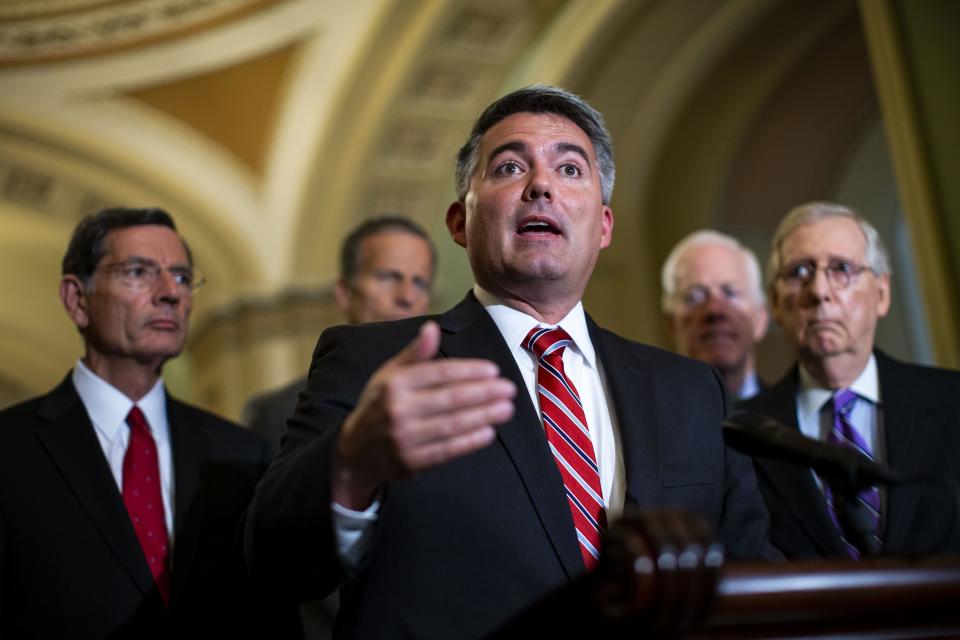
[[[247,514],[247,564],[264,588],[303,598],[345,582],[343,637],[479,637],[584,570],[537,411],[472,294],[438,318],[440,357],[497,363],[517,385],[516,415],[491,446],[391,483],[362,566],[348,573],[339,563],[330,464],[341,423],[423,320],[324,332],[284,449]],[[697,511],[731,555],[758,555],[767,517],[749,459],[724,447],[719,377],[588,323],[620,426],[627,501]]]

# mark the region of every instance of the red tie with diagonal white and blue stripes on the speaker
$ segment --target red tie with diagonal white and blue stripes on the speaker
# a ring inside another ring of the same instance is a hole
[[[600,471],[580,395],[563,370],[563,350],[572,342],[566,331],[534,327],[524,341],[540,363],[537,400],[547,443],[563,477],[580,553],[587,569],[600,557],[601,531],[606,526]]]

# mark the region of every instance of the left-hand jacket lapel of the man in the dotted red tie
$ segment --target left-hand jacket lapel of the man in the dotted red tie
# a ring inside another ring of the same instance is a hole
[[[131,579],[144,594],[153,575],[103,455],[93,424],[68,376],[37,410],[43,426],[37,438],[87,516]]]

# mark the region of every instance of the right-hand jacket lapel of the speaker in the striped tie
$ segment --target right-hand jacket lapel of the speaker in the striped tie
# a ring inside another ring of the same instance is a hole
[[[590,339],[603,366],[613,401],[626,474],[625,506],[643,506],[643,496],[656,496],[660,486],[660,422],[649,372],[622,345],[587,318]],[[607,375],[615,372],[615,375]]]

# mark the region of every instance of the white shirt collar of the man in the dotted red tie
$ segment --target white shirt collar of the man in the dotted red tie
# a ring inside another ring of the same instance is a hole
[[[127,414],[133,408],[133,401],[91,371],[83,360],[77,360],[72,379],[94,428],[108,441],[113,442],[121,429],[127,428]],[[143,411],[154,439],[162,437],[164,434],[160,431],[160,425],[167,423],[167,398],[163,379],[158,379],[153,388],[136,404]]]

